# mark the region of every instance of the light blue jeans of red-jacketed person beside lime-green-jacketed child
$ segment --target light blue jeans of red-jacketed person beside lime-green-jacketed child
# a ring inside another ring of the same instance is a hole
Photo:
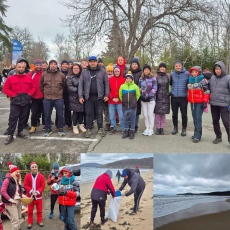
[[[119,121],[121,124],[121,130],[124,131],[124,120],[123,120],[123,111],[122,111],[122,104],[109,104],[109,115],[111,126],[117,130],[117,122],[116,122],[116,111],[118,113]]]

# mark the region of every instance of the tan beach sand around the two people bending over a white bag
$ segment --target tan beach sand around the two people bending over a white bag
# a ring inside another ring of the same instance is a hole
[[[114,223],[112,220],[108,220],[104,225],[101,226],[102,230],[114,229],[114,230],[140,230],[140,229],[153,229],[153,170],[141,173],[141,176],[146,182],[145,191],[141,197],[139,210],[136,215],[130,216],[126,212],[130,213],[130,208],[134,205],[133,194],[129,197],[124,197],[121,202],[120,212],[118,215],[118,220]],[[112,182],[115,190],[118,189],[123,181],[121,178],[118,184],[117,178],[113,178]],[[92,183],[81,184],[81,229],[83,226],[90,221],[91,212],[91,199],[90,193],[93,187]],[[126,185],[125,189],[122,191],[129,191],[130,187]],[[106,212],[109,206],[110,196],[107,196],[106,201]],[[95,224],[100,223],[100,211],[97,210],[96,218],[94,220]],[[125,223],[126,222],[126,223]],[[123,225],[122,225],[123,224]],[[96,229],[96,228],[95,228]]]

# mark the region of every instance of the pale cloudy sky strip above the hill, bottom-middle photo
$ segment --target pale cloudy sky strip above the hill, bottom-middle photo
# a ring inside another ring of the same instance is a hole
[[[81,154],[81,163],[99,163],[99,164],[107,164],[118,160],[124,159],[141,159],[153,157],[153,154],[147,153],[104,153],[104,154]]]

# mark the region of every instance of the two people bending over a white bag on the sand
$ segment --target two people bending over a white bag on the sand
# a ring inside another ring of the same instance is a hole
[[[129,213],[129,215],[136,215],[139,208],[141,196],[145,190],[145,181],[141,177],[139,169],[137,171],[131,168],[125,168],[122,170],[122,173],[119,174],[119,177],[120,176],[123,177],[124,180],[118,190],[122,191],[127,184],[130,186],[130,190],[128,192],[123,192],[122,196],[128,197],[134,194],[134,205],[131,208],[132,211]],[[116,197],[116,191],[111,181],[112,178],[113,173],[110,169],[108,169],[105,173],[103,173],[96,179],[93,185],[91,191],[92,209],[90,216],[90,227],[92,229],[95,226],[94,219],[98,206],[100,208],[101,225],[108,221],[108,218],[105,217],[105,205],[107,195],[111,194],[113,198]]]

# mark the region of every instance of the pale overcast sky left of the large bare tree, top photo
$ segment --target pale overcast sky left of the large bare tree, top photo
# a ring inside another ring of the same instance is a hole
[[[57,33],[68,34],[69,29],[62,25],[60,19],[66,19],[73,11],[67,9],[61,2],[70,2],[70,0],[7,0],[9,6],[5,23],[10,26],[19,26],[29,28],[33,37],[43,38],[51,48]],[[100,52],[102,44],[98,43],[92,47],[91,53],[97,55]]]

